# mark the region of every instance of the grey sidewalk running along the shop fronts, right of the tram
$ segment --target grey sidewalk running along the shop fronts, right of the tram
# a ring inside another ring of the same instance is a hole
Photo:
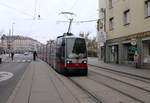
[[[150,79],[150,69],[137,69],[135,67],[129,67],[125,65],[104,63],[103,61],[98,60],[98,58],[88,58],[88,64],[103,67],[103,68],[109,68],[109,69],[113,69],[125,73],[130,73],[133,75],[138,75]]]

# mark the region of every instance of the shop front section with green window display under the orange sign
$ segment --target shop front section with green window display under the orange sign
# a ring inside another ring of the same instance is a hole
[[[132,40],[135,40],[135,43],[132,43]],[[150,32],[128,36],[126,41],[128,43],[123,45],[127,63],[137,64],[139,68],[150,68]]]

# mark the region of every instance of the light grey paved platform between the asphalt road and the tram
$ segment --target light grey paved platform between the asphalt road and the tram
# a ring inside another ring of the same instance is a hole
[[[54,70],[41,60],[32,62],[6,103],[77,103]]]

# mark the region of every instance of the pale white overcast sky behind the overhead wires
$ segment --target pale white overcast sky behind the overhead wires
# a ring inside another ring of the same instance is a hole
[[[97,19],[97,9],[97,0],[0,0],[0,32],[8,34],[13,25],[14,34],[45,43],[68,29],[68,23],[57,22],[68,20],[59,15],[60,12],[73,12],[76,14],[74,21],[84,21]],[[38,15],[40,20],[37,20]],[[90,32],[91,36],[96,36],[96,22],[73,23],[72,32],[76,35]]]

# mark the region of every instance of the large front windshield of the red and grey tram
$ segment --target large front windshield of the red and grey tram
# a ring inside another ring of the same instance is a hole
[[[86,43],[81,38],[68,38],[67,39],[67,58],[86,58]]]

